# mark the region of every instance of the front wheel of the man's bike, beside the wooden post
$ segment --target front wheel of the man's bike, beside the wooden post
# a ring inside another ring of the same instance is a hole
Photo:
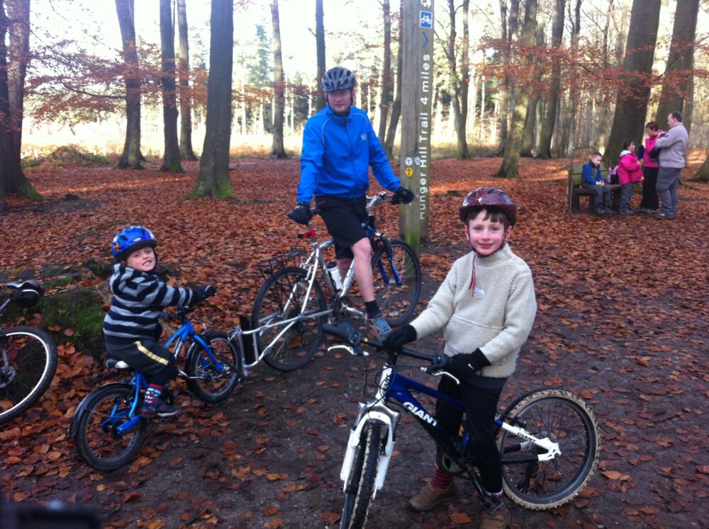
[[[404,241],[391,239],[391,256],[386,241],[372,258],[374,297],[386,322],[399,326],[408,322],[421,294],[421,265]]]

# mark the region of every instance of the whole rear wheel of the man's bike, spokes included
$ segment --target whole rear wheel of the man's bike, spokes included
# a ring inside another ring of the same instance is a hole
[[[315,316],[327,308],[325,294],[316,281],[308,293],[307,274],[302,268],[281,268],[259,289],[251,321],[258,333],[259,351],[272,368],[292,371],[306,365],[323,341],[325,316]],[[279,324],[297,318],[290,324]],[[288,329],[284,329],[288,326]]]

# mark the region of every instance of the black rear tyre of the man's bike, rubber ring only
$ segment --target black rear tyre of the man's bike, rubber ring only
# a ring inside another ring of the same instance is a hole
[[[286,268],[281,268],[281,270],[277,271],[273,275],[269,275],[269,278],[264,282],[263,285],[261,285],[261,288],[259,288],[259,291],[257,292],[256,299],[254,301],[254,308],[252,311],[252,325],[256,329],[259,326],[259,321],[261,320],[259,312],[262,310],[262,305],[264,303],[264,299],[266,298],[269,290],[277,284],[278,281],[280,281],[284,276],[288,275],[294,275],[298,280],[303,280],[306,278],[307,274],[306,271],[303,270],[303,268],[298,268],[296,266],[289,266]],[[316,296],[318,297],[318,311],[325,311],[328,308],[327,300],[325,300],[325,294],[323,293],[323,288],[320,287],[320,283],[315,281],[313,283],[313,290],[316,293]],[[311,296],[312,296],[312,291],[311,291]],[[281,318],[284,319],[284,318]],[[311,358],[313,358],[313,355],[315,355],[316,351],[318,351],[318,348],[320,347],[320,343],[323,342],[323,324],[325,323],[325,317],[320,317],[318,318],[318,329],[316,332],[316,336],[313,339],[313,341],[310,343],[310,345],[307,347],[307,350],[305,351],[305,354],[303,354],[300,358],[297,358],[296,360],[292,360],[290,362],[283,362],[276,358],[276,356],[269,351],[266,355],[264,355],[264,360],[268,365],[270,365],[272,368],[275,368],[277,370],[281,371],[292,371],[296,370],[298,368],[302,368],[303,365],[306,365],[306,363],[310,362]],[[263,351],[264,348],[264,343],[262,339],[262,335],[259,333],[257,334],[257,340],[258,340],[258,345],[259,345],[259,351]],[[285,342],[285,340],[284,340]],[[267,345],[267,344],[265,344]]]

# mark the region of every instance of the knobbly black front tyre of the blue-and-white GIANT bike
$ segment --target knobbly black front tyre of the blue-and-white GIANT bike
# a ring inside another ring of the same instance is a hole
[[[362,428],[361,441],[345,488],[340,529],[360,529],[367,524],[385,434],[386,426],[381,423],[369,422]]]

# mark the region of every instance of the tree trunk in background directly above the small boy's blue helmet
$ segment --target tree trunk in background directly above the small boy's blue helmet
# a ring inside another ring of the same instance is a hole
[[[140,161],[140,71],[135,48],[135,9],[133,0],[116,0],[118,25],[123,43],[123,84],[125,84],[125,143],[118,169],[143,169]]]

